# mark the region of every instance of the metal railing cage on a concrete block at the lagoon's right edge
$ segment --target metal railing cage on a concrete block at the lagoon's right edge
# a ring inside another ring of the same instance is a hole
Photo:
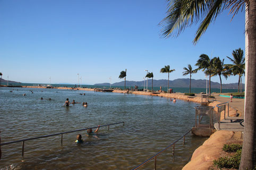
[[[214,133],[214,107],[213,106],[195,106],[195,127],[192,133],[197,136],[209,137]],[[209,117],[208,124],[201,124],[203,117]]]

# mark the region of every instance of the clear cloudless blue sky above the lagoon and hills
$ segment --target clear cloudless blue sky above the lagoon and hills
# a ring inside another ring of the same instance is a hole
[[[177,38],[160,38],[158,23],[166,16],[165,0],[0,0],[0,72],[22,83],[96,84],[141,81],[147,71],[154,79],[167,79],[160,69],[175,69],[170,80],[183,76],[203,53],[225,59],[245,49],[245,11],[231,21],[224,11],[197,44],[192,41],[198,24]],[[79,74],[79,75],[78,75]],[[200,70],[193,79],[206,79]],[[237,83],[231,76],[223,83]],[[219,82],[219,77],[212,77]],[[244,82],[244,77],[243,77]]]

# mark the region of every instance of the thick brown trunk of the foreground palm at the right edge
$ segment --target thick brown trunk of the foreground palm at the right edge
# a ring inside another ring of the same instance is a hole
[[[247,10],[246,10],[247,11]],[[248,21],[248,70],[246,75],[246,101],[244,120],[244,140],[240,170],[253,169],[256,166],[256,1],[250,1]]]

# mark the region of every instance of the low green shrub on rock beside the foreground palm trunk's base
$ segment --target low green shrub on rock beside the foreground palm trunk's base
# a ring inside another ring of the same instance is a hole
[[[220,157],[214,160],[214,165],[218,168],[235,168],[238,169],[241,161],[242,149],[237,150],[233,156]]]

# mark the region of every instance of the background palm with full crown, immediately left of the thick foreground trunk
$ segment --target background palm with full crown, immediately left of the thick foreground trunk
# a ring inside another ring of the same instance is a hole
[[[231,70],[233,75],[238,75],[238,92],[242,93],[242,76],[245,74],[245,58],[244,58],[244,51],[239,48],[232,52],[233,59],[227,57],[229,60],[233,62],[233,64],[225,65],[229,70]]]

